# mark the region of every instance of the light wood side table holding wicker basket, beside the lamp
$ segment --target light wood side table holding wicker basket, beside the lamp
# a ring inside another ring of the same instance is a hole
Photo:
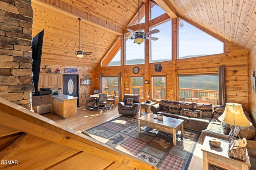
[[[209,145],[209,139],[213,137],[206,136],[202,146],[203,151],[203,170],[208,170],[210,164],[216,165],[227,170],[249,170],[251,166],[248,152],[246,152],[246,160],[242,161],[228,156],[228,141],[221,141],[220,147]]]

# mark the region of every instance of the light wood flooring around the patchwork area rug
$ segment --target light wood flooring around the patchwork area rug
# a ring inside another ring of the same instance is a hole
[[[145,109],[142,109],[142,113],[145,112]],[[74,131],[82,132],[82,129],[87,130],[106,121],[110,121],[122,115],[118,114],[118,108],[114,107],[108,111],[90,111],[85,109],[84,106],[80,106],[77,108],[77,116],[70,117],[63,119],[58,115],[53,113],[44,114],[45,117],[60,123]],[[140,115],[134,116],[134,118],[138,118]],[[202,162],[202,142],[201,138],[198,140],[198,144],[196,145],[196,149],[194,151],[194,155],[190,162],[190,166],[188,170],[202,170],[203,169],[203,162]]]

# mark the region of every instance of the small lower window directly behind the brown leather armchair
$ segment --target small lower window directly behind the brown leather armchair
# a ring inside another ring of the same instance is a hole
[[[140,94],[140,98],[143,98],[143,77],[131,77],[131,94]]]

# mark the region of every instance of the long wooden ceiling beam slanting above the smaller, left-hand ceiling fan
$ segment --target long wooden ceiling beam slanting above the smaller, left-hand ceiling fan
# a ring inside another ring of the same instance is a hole
[[[90,23],[91,25],[94,25],[96,27],[107,29],[108,31],[117,34],[122,35],[122,28],[114,25],[113,23],[110,23],[108,21],[105,21],[101,18],[98,18],[96,16],[93,16],[92,14],[88,14],[80,9],[75,8],[74,6],[71,6],[70,4],[67,4],[63,1],[55,1],[55,0],[36,0],[34,3],[40,3],[40,5],[45,6],[45,8],[58,8],[62,10],[63,12],[68,12],[70,14],[73,14],[74,16],[78,16],[79,18],[82,18],[85,22]],[[50,6],[49,6],[50,5]]]

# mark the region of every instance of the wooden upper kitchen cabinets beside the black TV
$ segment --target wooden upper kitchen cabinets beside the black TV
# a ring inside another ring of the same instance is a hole
[[[41,73],[38,88],[62,87],[62,74]]]

